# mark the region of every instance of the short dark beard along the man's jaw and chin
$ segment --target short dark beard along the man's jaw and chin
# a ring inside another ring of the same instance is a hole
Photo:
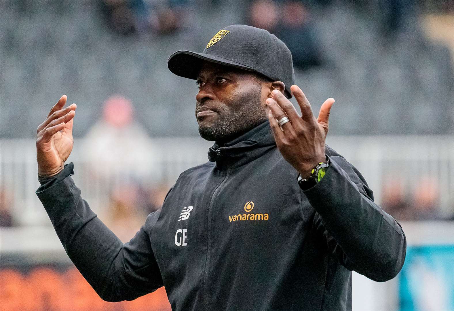
[[[227,118],[219,120],[211,126],[199,126],[200,136],[208,141],[226,143],[268,120],[268,115],[260,100],[261,92],[262,87],[259,84],[258,88],[254,90],[254,94],[250,94],[248,98],[243,97],[241,99],[245,101],[241,106],[242,109],[235,111],[233,114],[228,115]]]

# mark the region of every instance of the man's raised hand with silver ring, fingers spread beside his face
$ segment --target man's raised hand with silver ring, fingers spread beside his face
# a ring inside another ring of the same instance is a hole
[[[306,178],[317,163],[326,161],[325,139],[334,99],[326,99],[321,105],[318,118],[315,118],[303,91],[297,85],[292,85],[290,89],[301,108],[302,116],[284,94],[273,90],[272,98],[266,99],[266,105],[270,109],[268,118],[282,156]],[[280,127],[278,121],[284,117],[288,117],[290,122]]]

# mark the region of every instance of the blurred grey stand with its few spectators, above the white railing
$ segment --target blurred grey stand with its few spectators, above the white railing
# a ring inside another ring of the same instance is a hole
[[[288,45],[296,81],[310,90],[313,107],[327,96],[343,104],[331,123],[336,133],[452,132],[454,118],[446,111],[454,94],[453,3],[0,1],[0,137],[31,137],[61,92],[84,104],[75,137],[86,135],[98,103],[115,93],[134,100],[153,136],[195,136],[187,116],[196,88],[170,73],[166,62],[178,49],[201,51],[231,24],[265,28]],[[168,92],[169,85],[178,92]]]

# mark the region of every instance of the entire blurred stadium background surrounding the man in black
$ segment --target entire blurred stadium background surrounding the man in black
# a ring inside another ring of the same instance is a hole
[[[163,288],[104,302],[74,268],[35,195],[35,131],[62,94],[78,104],[68,163],[127,242],[211,146],[168,56],[231,24],[289,46],[314,111],[336,99],[327,143],[404,227],[402,272],[354,273],[354,310],[454,310],[452,0],[0,1],[0,310],[170,310]]]

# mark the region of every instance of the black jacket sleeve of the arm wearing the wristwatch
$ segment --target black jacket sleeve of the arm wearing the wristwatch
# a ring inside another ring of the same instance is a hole
[[[353,165],[338,154],[329,158],[325,176],[303,191],[316,210],[314,227],[344,267],[374,281],[388,281],[404,264],[402,227],[375,204]]]

